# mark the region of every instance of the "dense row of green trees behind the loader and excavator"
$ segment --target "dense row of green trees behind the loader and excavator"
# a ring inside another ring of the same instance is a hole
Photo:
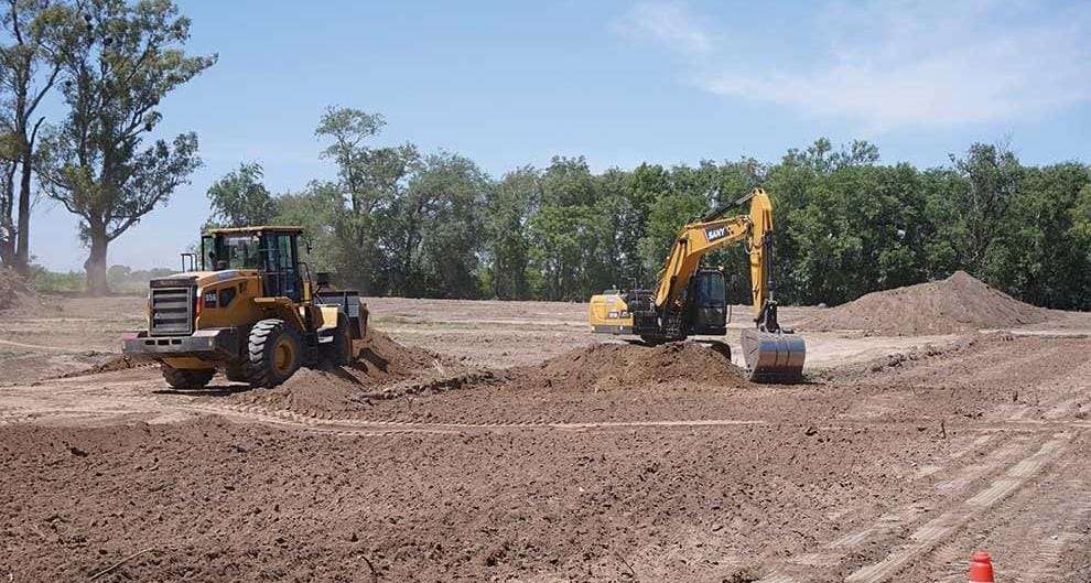
[[[552,159],[493,179],[450,152],[374,147],[384,118],[332,107],[315,133],[336,180],[271,194],[244,163],[208,191],[219,225],[288,223],[309,260],[370,295],[581,301],[649,287],[679,228],[715,208],[775,205],[776,284],[788,303],[836,304],[965,270],[1025,301],[1091,307],[1091,168],[1025,165],[972,144],[941,168],[879,163],[878,149],[819,139],[776,163],[641,164],[593,172]],[[707,258],[748,298],[742,246]]]

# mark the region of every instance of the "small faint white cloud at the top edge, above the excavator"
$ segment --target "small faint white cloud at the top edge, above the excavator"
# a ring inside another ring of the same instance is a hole
[[[713,47],[712,35],[680,2],[638,2],[615,29],[637,39],[650,36],[671,50],[691,55],[706,54]]]

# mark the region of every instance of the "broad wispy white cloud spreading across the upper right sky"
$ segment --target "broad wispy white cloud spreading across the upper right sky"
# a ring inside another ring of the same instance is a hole
[[[876,0],[786,20],[793,30],[766,45],[807,35],[820,50],[717,62],[705,33],[690,60],[699,84],[874,132],[1014,121],[1091,100],[1091,3]],[[735,25],[745,33],[746,22]]]

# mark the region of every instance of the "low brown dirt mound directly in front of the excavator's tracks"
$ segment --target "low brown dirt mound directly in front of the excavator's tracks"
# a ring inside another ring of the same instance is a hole
[[[557,391],[646,387],[663,382],[745,384],[745,373],[731,363],[726,346],[678,342],[649,348],[631,344],[595,344],[511,371],[511,382]]]

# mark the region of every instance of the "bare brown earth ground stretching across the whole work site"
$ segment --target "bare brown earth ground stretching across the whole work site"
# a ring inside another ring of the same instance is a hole
[[[979,548],[1002,581],[1091,577],[1088,314],[807,332],[789,387],[700,346],[660,356],[715,375],[627,376],[650,349],[584,304],[372,299],[428,380],[305,371],[331,397],[303,401],[57,378],[144,300],[56,302],[0,319],[0,581],[953,582]]]

